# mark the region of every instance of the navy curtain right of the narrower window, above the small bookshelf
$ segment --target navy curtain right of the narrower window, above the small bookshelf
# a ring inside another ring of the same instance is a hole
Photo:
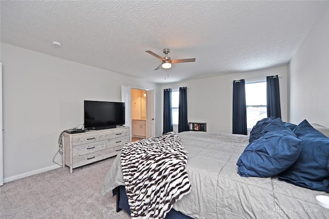
[[[178,132],[189,131],[187,121],[187,87],[179,88]]]

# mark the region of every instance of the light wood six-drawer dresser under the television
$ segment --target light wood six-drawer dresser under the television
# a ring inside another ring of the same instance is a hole
[[[117,155],[130,141],[129,127],[63,133],[63,168],[73,169]]]

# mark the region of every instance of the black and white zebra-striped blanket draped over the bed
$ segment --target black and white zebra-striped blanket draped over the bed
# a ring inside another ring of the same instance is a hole
[[[165,218],[191,191],[188,156],[175,132],[123,146],[121,166],[132,218]]]

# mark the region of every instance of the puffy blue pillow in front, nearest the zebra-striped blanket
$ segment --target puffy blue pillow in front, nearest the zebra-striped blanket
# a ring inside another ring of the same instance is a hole
[[[267,132],[250,143],[236,165],[241,176],[270,177],[294,164],[301,152],[301,141],[289,129]]]

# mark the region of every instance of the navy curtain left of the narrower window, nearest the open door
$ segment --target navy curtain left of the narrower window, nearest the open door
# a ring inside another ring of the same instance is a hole
[[[171,115],[171,89],[163,90],[163,134],[173,131]]]

